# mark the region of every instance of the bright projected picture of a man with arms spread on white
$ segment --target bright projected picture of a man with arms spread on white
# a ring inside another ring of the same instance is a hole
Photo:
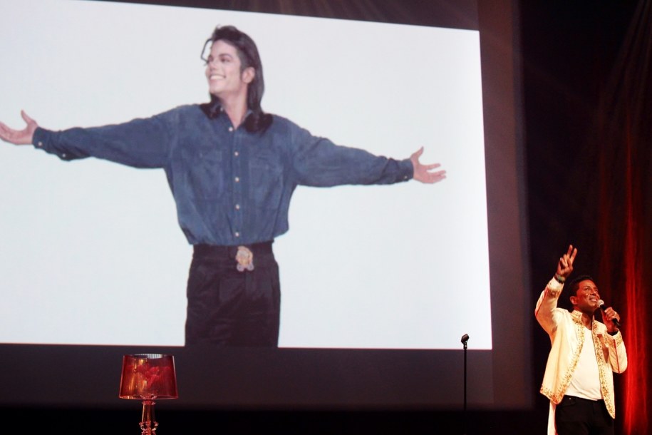
[[[477,31],[0,13],[1,343],[491,349]]]

